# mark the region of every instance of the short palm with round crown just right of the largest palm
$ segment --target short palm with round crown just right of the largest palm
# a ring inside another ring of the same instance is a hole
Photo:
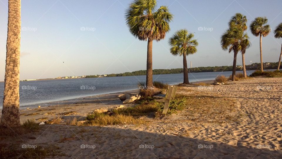
[[[171,46],[170,53],[174,56],[183,56],[183,83],[185,84],[189,84],[186,56],[197,52],[198,42],[193,38],[194,34],[181,29],[176,31],[168,41]]]

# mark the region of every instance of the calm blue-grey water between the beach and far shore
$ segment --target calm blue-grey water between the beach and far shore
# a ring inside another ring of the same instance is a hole
[[[254,71],[251,70],[248,71],[247,74],[249,75],[253,72]],[[189,73],[188,76],[189,82],[195,82],[214,80],[219,74],[229,76],[232,72]],[[183,74],[154,75],[153,80],[173,85],[183,82]],[[137,84],[139,81],[145,82],[146,76],[21,81],[20,106],[30,106],[39,103],[133,90],[138,88]],[[4,82],[0,82],[0,109],[3,106],[3,92]]]

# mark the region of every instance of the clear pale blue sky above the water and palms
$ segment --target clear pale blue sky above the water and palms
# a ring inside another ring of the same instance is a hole
[[[20,78],[123,73],[146,69],[147,42],[135,39],[125,24],[130,0],[23,0],[21,2]],[[174,14],[171,31],[153,42],[153,69],[182,68],[182,57],[169,53],[168,38],[188,29],[199,42],[198,52],[187,57],[188,66],[231,66],[233,53],[223,51],[220,36],[235,13],[266,16],[272,30],[282,22],[281,0],[159,0]],[[8,0],[0,0],[0,81],[4,81]],[[200,31],[199,27],[212,28]],[[246,51],[246,64],[259,62],[259,37]],[[273,31],[263,38],[263,61],[277,62],[282,39]],[[64,63],[63,63],[64,62]],[[241,64],[238,54],[237,64]]]

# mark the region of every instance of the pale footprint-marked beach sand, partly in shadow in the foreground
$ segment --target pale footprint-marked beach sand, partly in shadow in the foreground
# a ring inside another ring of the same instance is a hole
[[[22,144],[58,147],[61,154],[49,158],[278,159],[282,158],[281,90],[281,78],[249,78],[222,86],[182,86],[177,94],[187,96],[187,108],[162,119],[146,118],[145,125],[41,125],[39,132],[15,137],[14,143],[9,138],[1,142],[19,148]],[[96,108],[120,105],[117,94],[114,96],[102,103],[89,99],[85,105],[61,107],[84,115]]]

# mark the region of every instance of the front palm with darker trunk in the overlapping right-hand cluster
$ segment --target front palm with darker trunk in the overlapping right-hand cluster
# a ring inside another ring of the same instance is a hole
[[[221,36],[221,48],[229,53],[234,52],[233,69],[232,69],[232,81],[235,81],[236,75],[236,62],[237,54],[241,50],[241,41],[244,39],[244,32],[239,27],[231,27],[226,30]]]

